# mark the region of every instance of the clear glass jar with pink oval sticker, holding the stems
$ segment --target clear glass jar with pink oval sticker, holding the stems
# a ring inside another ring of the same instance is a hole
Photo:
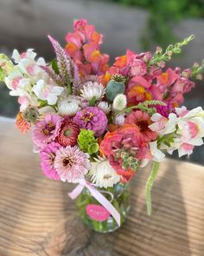
[[[109,200],[113,207],[120,213],[121,225],[130,210],[130,182],[126,184],[118,183],[114,187],[97,188],[101,194]],[[83,223],[93,231],[99,233],[109,233],[118,229],[118,224],[112,215],[102,207],[98,200],[92,197],[85,187],[76,200],[76,206]]]

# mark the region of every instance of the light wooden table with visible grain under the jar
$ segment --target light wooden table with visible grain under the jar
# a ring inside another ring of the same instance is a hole
[[[204,255],[204,167],[164,161],[144,206],[150,167],[132,186],[131,213],[117,232],[93,233],[67,197],[73,186],[41,174],[29,135],[0,122],[0,255]]]

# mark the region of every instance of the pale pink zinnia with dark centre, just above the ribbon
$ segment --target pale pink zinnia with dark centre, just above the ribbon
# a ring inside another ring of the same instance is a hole
[[[54,168],[61,177],[61,181],[77,183],[84,177],[90,167],[89,154],[77,146],[60,148],[56,152]]]

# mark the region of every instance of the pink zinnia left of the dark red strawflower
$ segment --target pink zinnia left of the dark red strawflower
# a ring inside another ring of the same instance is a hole
[[[36,146],[45,148],[59,134],[63,118],[60,115],[48,114],[39,121],[33,130],[33,141]]]

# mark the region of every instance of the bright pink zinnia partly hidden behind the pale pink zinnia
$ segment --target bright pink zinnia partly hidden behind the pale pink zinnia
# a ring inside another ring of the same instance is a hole
[[[41,169],[43,174],[45,174],[49,179],[60,181],[61,178],[57,174],[54,168],[55,154],[61,145],[56,142],[49,143],[45,148],[41,150]]]

